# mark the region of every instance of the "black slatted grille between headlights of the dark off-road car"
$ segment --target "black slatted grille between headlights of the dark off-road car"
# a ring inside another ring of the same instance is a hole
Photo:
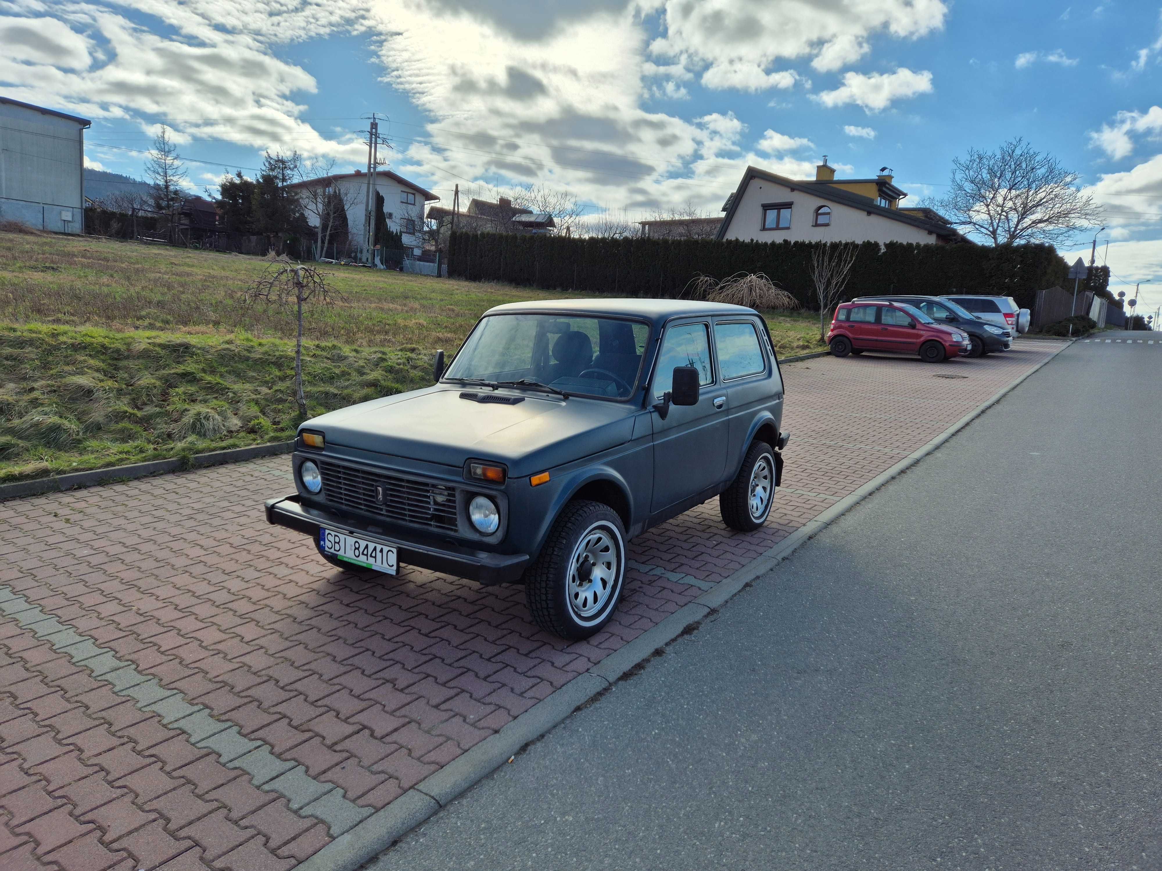
[[[456,532],[456,488],[382,472],[318,461],[323,498],[389,520]],[[378,495],[382,494],[382,501]]]

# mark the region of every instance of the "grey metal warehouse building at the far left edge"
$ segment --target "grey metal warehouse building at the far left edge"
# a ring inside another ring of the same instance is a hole
[[[0,96],[0,221],[84,232],[89,123]]]

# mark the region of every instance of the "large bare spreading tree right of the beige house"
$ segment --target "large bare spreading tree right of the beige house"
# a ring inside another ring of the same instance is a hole
[[[1076,187],[1078,178],[1018,137],[996,151],[969,149],[955,158],[948,195],[931,206],[994,245],[1059,244],[1102,221],[1102,208]]]

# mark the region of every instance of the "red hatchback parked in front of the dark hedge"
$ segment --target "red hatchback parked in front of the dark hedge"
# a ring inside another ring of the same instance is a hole
[[[944,362],[971,348],[968,333],[942,326],[912,305],[885,301],[839,305],[827,333],[827,345],[835,357],[883,351],[918,354],[925,362]]]

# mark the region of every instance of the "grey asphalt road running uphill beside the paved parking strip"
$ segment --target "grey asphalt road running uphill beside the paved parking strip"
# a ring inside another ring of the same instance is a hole
[[[370,866],[1162,868],[1160,375],[1067,348]]]

